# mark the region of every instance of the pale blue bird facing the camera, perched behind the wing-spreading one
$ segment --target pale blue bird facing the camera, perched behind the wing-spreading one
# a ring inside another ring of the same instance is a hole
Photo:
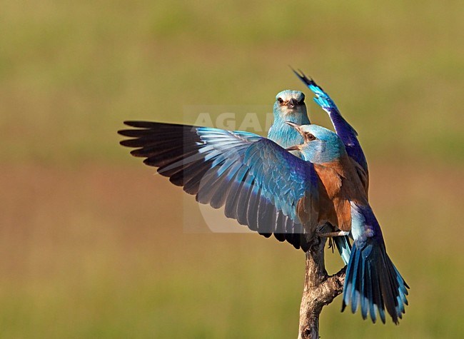
[[[287,123],[298,123],[299,125],[311,123],[306,110],[305,95],[301,91],[286,90],[278,93],[273,107],[273,117],[273,125],[268,132],[269,139],[283,148],[303,143],[301,134]],[[291,153],[301,157],[299,151],[291,151]],[[283,241],[285,239],[281,236],[278,240]],[[336,244],[343,262],[348,265],[351,252],[348,236],[336,236],[333,238],[333,242]],[[305,248],[308,248],[308,246],[305,246]]]

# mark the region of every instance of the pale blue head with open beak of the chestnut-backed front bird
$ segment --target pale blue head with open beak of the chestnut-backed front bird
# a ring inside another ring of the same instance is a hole
[[[303,136],[301,145],[291,146],[287,151],[300,151],[304,160],[330,163],[346,154],[343,141],[330,129],[318,125],[298,125],[290,121],[286,123]]]

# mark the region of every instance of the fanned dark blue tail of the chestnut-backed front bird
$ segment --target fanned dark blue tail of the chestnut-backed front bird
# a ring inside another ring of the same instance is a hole
[[[343,286],[342,312],[347,305],[351,305],[353,313],[360,306],[363,319],[370,313],[370,319],[375,323],[378,313],[385,323],[386,309],[393,322],[398,324],[398,319],[405,313],[405,305],[408,305],[407,288],[408,284],[388,258],[383,243],[368,239],[362,248],[353,243]]]

